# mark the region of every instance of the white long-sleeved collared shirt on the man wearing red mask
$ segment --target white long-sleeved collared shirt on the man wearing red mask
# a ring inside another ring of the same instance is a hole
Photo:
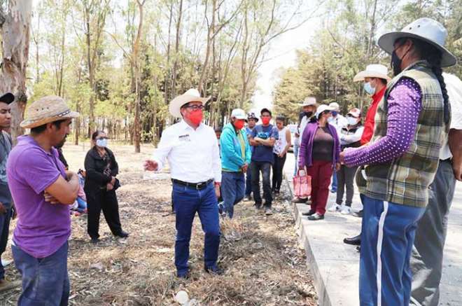
[[[221,182],[218,139],[213,128],[201,123],[196,130],[184,120],[162,132],[153,159],[159,169],[169,161],[172,179],[200,183],[214,179]]]

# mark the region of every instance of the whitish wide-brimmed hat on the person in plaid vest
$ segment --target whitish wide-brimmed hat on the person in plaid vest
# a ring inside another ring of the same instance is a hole
[[[447,30],[440,22],[431,18],[419,18],[405,26],[400,32],[390,32],[379,38],[379,46],[386,53],[393,53],[393,44],[397,39],[411,38],[425,41],[435,46],[442,54],[441,67],[454,66],[457,63],[456,57],[444,48],[447,38]]]

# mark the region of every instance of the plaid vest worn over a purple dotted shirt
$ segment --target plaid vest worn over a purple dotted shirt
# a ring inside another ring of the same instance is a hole
[[[386,136],[388,95],[402,77],[412,78],[421,88],[421,112],[414,139],[399,158],[384,164],[360,167],[356,172],[356,183],[360,193],[368,197],[426,207],[428,186],[435,178],[440,148],[449,132],[449,125],[444,123],[444,100],[440,83],[425,61],[412,64],[388,83],[377,108],[371,142]]]

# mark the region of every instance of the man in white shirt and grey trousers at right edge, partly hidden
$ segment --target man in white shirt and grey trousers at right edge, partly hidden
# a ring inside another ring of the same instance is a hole
[[[417,223],[412,249],[411,305],[437,306],[447,219],[456,180],[462,181],[462,81],[453,74],[443,73],[451,104],[449,138],[440,151],[440,164],[428,190],[425,214]]]

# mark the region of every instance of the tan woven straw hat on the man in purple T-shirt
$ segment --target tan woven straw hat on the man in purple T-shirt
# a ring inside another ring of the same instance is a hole
[[[25,129],[39,127],[57,120],[77,118],[79,113],[71,111],[62,97],[47,96],[27,107],[26,117],[20,124]]]

